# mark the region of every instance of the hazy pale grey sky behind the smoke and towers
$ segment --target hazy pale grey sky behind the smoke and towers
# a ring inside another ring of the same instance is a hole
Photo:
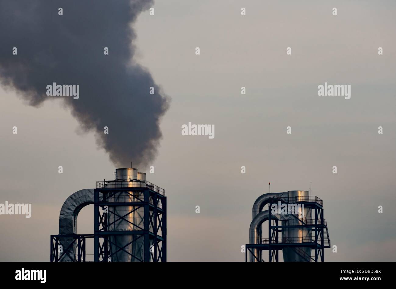
[[[168,196],[168,261],[244,261],[251,207],[268,182],[284,192],[308,190],[309,181],[337,245],[326,261],[396,260],[396,2],[153,7],[154,16],[145,11],[134,25],[135,61],[171,103],[149,164],[155,173],[139,170]],[[324,82],[350,84],[351,98],[319,97]],[[0,215],[0,260],[48,261],[63,202],[111,179],[115,167],[61,100],[33,108],[6,87],[0,100],[0,203],[32,203],[30,219]],[[214,139],[182,136],[188,122],[214,124]],[[93,205],[80,213],[78,233],[93,233]]]

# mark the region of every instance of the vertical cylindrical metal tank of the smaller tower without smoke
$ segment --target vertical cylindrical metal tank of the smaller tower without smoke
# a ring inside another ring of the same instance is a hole
[[[297,203],[299,201],[308,201],[308,191],[288,191],[289,203]],[[296,214],[297,215],[297,214]],[[304,208],[302,216],[297,216],[299,219],[312,219],[312,209]],[[297,219],[282,221],[283,226],[301,225]],[[282,241],[290,243],[307,243],[312,242],[311,228],[283,228]],[[303,253],[300,251],[302,250]],[[282,249],[283,259],[285,262],[307,262],[307,256],[311,255],[311,248],[298,247],[293,249],[291,247]]]

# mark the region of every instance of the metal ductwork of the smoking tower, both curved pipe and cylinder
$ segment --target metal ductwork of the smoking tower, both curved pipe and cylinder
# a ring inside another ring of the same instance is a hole
[[[146,186],[146,173],[138,173],[137,169],[134,168],[123,168],[116,169],[116,177],[113,181],[109,181],[109,188],[137,188]],[[65,203],[63,203],[61,213],[59,215],[59,234],[60,235],[72,235],[77,234],[77,216],[83,207],[94,203],[94,189],[84,189],[79,190],[72,194]],[[128,194],[129,193],[129,194]],[[132,196],[131,196],[132,195]],[[137,202],[137,199],[142,200],[143,192],[120,192],[116,193],[112,198],[111,202]],[[124,216],[130,213],[128,216],[124,217],[119,221],[118,216]],[[117,216],[118,215],[118,216]],[[132,231],[132,230],[142,230],[144,228],[144,208],[135,208],[134,206],[123,206],[114,205],[109,206],[109,224],[114,222],[109,226],[109,230],[112,231]],[[131,224],[131,223],[133,224]],[[152,232],[152,228],[150,228]],[[139,259],[143,259],[143,238],[139,240],[134,240],[137,238],[135,236],[113,236],[110,237],[110,241],[113,243],[110,245],[112,251],[117,251],[118,247],[124,247],[131,241],[133,243],[125,247],[125,250]],[[67,254],[73,259],[76,253],[76,244],[74,243],[69,249],[67,247],[72,243],[72,237],[63,237],[60,243],[64,250],[67,250]],[[151,244],[150,240],[150,244]],[[72,260],[68,255],[63,258],[63,261]],[[125,254],[124,251],[116,253],[112,257],[113,262],[133,262],[131,255]]]

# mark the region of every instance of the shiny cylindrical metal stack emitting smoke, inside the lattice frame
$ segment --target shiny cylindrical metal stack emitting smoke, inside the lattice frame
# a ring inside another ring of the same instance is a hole
[[[139,175],[140,174],[140,175]],[[116,179],[114,181],[109,181],[109,188],[136,188],[145,186],[145,181],[139,181],[139,177],[142,178],[142,173],[138,173],[137,169],[133,168],[122,168],[116,169]],[[120,191],[109,199],[109,202],[141,202],[144,200],[144,194],[142,191]],[[114,213],[111,213],[114,212]],[[129,213],[132,212],[132,213]],[[129,213],[129,214],[128,214]],[[119,219],[117,215],[124,217],[124,219]],[[133,231],[133,230],[143,230],[144,228],[144,207],[135,207],[130,205],[114,205],[109,206],[108,215],[108,230],[110,231]],[[129,223],[129,222],[133,223]],[[120,248],[124,248],[128,253],[133,254],[138,259],[143,260],[143,247],[144,238],[138,238],[139,235],[120,235],[110,237],[110,252],[114,253]],[[132,242],[127,245],[128,243]],[[150,243],[152,243],[150,241]],[[131,255],[124,251],[118,251],[112,256],[112,262],[138,262],[139,260],[133,258]]]

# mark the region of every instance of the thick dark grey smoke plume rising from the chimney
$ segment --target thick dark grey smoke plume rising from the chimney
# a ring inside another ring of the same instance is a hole
[[[132,24],[152,2],[0,0],[1,84],[36,107],[63,99],[114,165],[147,165],[156,156],[159,122],[169,103],[150,73],[133,60]],[[79,98],[47,96],[46,86],[53,82],[79,85]]]

